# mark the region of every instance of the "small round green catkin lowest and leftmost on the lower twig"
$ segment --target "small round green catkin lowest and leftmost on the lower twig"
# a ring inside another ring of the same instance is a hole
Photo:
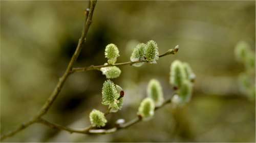
[[[103,112],[94,109],[90,113],[90,122],[93,127],[104,127],[107,121]]]

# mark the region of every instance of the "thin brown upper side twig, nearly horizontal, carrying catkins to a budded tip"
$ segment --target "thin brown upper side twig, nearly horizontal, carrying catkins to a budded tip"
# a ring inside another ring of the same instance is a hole
[[[179,50],[179,46],[177,45],[175,48],[173,49],[169,49],[167,50],[165,53],[159,55],[159,58],[165,56],[165,55],[169,55],[169,54],[176,54]],[[124,63],[116,63],[116,64],[108,64],[108,65],[99,65],[99,66],[89,66],[89,67],[83,67],[83,68],[73,68],[71,73],[74,72],[84,72],[84,71],[90,71],[90,70],[100,70],[100,68],[103,67],[110,67],[110,66],[124,66],[124,65],[133,65],[136,63],[145,63],[147,62],[146,60],[140,60],[140,61],[135,61],[135,62],[124,62]]]

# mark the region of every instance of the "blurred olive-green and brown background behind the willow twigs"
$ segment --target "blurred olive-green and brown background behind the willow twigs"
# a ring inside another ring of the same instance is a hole
[[[1,1],[1,134],[30,119],[65,71],[81,34],[85,1]],[[160,53],[180,46],[157,64],[120,67],[114,79],[125,91],[117,119],[136,116],[147,82],[158,79],[172,96],[169,66],[188,62],[197,75],[193,98],[180,109],[167,105],[152,120],[108,135],[69,134],[34,124],[5,141],[16,142],[255,142],[255,101],[239,91],[244,66],[234,46],[255,51],[255,1],[99,1],[75,67],[102,65],[114,43],[127,62],[136,42],[155,40]],[[255,77],[252,77],[255,78]],[[92,109],[104,111],[100,71],[71,75],[46,119],[70,127],[90,124]]]

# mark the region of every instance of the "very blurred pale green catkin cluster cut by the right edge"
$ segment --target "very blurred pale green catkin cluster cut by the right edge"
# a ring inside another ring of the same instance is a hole
[[[245,71],[239,74],[238,83],[242,93],[250,100],[255,99],[255,52],[245,41],[240,41],[234,48],[234,55],[242,63]]]

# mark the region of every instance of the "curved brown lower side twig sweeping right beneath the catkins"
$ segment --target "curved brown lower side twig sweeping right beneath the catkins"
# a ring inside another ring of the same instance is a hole
[[[168,103],[171,103],[172,100],[171,99],[167,99],[163,102],[163,104],[161,106],[158,106],[155,108],[155,111],[162,108],[163,106],[165,106],[166,104]],[[110,112],[109,110],[107,110],[104,115],[108,115]],[[117,127],[113,127],[113,128],[110,128],[110,129],[93,129],[93,127],[90,125],[86,128],[82,128],[82,129],[72,129],[72,128],[69,128],[69,127],[65,127],[65,126],[62,126],[62,125],[59,125],[59,124],[56,124],[56,123],[51,123],[45,119],[42,119],[40,118],[37,123],[41,123],[41,124],[44,124],[46,126],[49,126],[53,129],[59,129],[59,130],[65,130],[65,131],[68,131],[69,133],[82,133],[82,134],[108,134],[108,133],[113,133],[113,132],[116,132],[118,130],[121,130],[121,129],[125,129],[125,128],[128,128],[130,126],[133,126],[135,125],[136,123],[139,123],[141,120],[141,117],[140,116],[137,116],[137,118],[129,121],[129,122],[126,122],[124,124],[120,124],[118,125]]]

